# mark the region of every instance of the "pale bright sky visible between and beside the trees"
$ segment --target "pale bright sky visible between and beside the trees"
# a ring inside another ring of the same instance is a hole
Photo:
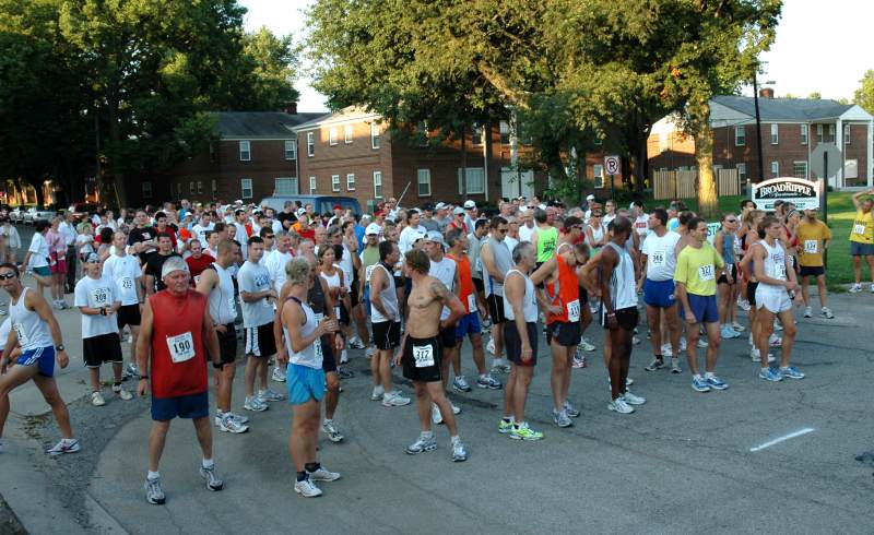
[[[275,34],[299,39],[304,32],[302,10],[312,0],[240,0],[249,13],[246,26],[267,26]],[[818,92],[824,98],[850,98],[859,81],[874,69],[870,43],[874,2],[871,0],[784,0],[777,40],[761,55],[765,73],[760,82],[773,82],[777,96],[807,96]],[[304,63],[306,69],[307,64]],[[297,109],[322,111],[326,98],[302,76]],[[752,88],[744,94],[752,95]]]

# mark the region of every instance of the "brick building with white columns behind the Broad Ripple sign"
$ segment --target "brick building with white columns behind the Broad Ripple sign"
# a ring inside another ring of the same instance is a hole
[[[840,152],[837,173],[828,177],[836,188],[867,186],[874,178],[874,118],[855,105],[828,99],[759,97],[764,179],[798,177],[815,180],[812,155],[820,144]],[[718,96],[710,100],[714,168],[737,169],[742,182],[758,181],[758,140],[753,97]],[[837,139],[842,132],[842,140]],[[695,143],[684,136],[674,117],[653,124],[647,152],[652,171],[695,168]],[[830,167],[830,166],[829,166]]]

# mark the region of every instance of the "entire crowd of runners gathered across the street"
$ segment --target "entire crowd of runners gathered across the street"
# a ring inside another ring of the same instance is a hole
[[[862,260],[874,293],[872,195],[853,195],[854,293],[862,290]],[[344,439],[334,416],[341,382],[354,377],[346,365],[355,349],[369,359],[371,401],[391,408],[411,404],[394,385],[392,368],[413,384],[420,430],[406,453],[436,450],[434,426],[442,424],[456,462],[468,459],[468,449],[449,389],[503,390],[495,394],[504,401],[496,430],[515,440],[543,439],[525,416],[539,355],[551,357],[552,420],[572,425],[580,411],[571,402],[571,370],[589,366],[587,355],[597,350],[584,337],[593,321],[606,331],[605,401],[618,414],[646,403],[629,390],[628,377],[633,348],[645,334],[652,357],[643,369],[682,373],[688,366],[696,392],[729,388],[717,374],[720,344],[741,336],[748,337],[761,380],[803,379],[792,364],[792,309],[794,301],[804,317],[813,316],[811,278],[819,316],[835,318],[824,270],[832,238],[817,216],[782,202],[765,212],[747,200],[723,214],[713,234],[682,202],[624,209],[593,195],[569,210],[538,199],[505,200],[488,216],[473,201],[401,209],[391,199],[373,215],[356,215],[339,205],[316,214],[309,204],[288,202],[274,213],[241,201],[184,200],[103,211],[82,222],[72,214],[36,222],[21,263],[21,240],[7,222],[0,226],[0,287],[10,298],[0,326],[0,437],[8,394],[33,380],[61,432],[48,453],[81,449],[54,379],[56,362],[63,368],[70,357],[52,308],[76,308],[82,316],[94,406],[107,403],[104,364],[111,368],[113,396],[131,400],[122,385],[130,379],[137,395],[151,399],[150,503],[165,501],[158,467],[170,421],[192,420],[200,474],[209,489],[221,490],[213,427],[244,433],[258,425],[257,413],[281,401],[293,413],[294,489],[321,495],[317,484],[340,474],[319,463],[317,442],[320,432],[332,442]],[[66,294],[73,294],[72,305]],[[746,325],[737,310],[748,313]],[[461,362],[465,341],[476,370],[470,381]],[[130,345],[127,366],[122,342]],[[548,352],[539,352],[544,343]],[[234,407],[238,362],[245,396]]]

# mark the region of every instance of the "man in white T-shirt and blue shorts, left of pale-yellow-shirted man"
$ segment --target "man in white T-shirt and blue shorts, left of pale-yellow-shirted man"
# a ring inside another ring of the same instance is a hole
[[[640,262],[646,266],[646,280],[641,277],[638,290],[643,290],[643,302],[647,304],[647,322],[649,323],[654,359],[645,369],[656,371],[664,366],[664,354],[670,349],[671,371],[680,373],[680,317],[674,298],[674,269],[676,268],[676,243],[680,235],[668,230],[668,212],[656,209],[649,215],[648,226],[651,233],[640,247]],[[642,270],[641,270],[642,271]],[[664,321],[662,322],[662,314]],[[666,326],[670,341],[662,344],[662,324]]]

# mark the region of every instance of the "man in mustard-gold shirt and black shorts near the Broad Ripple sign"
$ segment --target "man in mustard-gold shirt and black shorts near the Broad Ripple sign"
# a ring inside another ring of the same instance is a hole
[[[801,296],[804,298],[804,317],[813,318],[811,307],[811,293],[807,281],[816,277],[816,287],[819,288],[819,313],[829,320],[835,318],[828,308],[828,294],[826,293],[826,270],[823,264],[823,253],[828,248],[831,230],[825,223],[816,218],[816,210],[805,210],[804,218],[799,224],[799,265],[801,265]]]

